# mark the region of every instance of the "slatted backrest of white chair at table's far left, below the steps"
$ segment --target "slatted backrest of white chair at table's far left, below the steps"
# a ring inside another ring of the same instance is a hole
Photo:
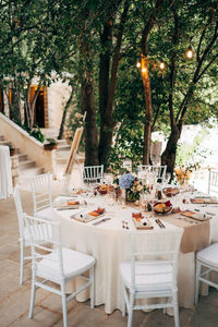
[[[43,173],[29,179],[34,199],[34,215],[52,206],[51,177],[50,173]]]

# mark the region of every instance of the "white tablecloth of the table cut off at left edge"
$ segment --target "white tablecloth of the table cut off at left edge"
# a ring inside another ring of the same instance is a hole
[[[9,146],[0,145],[0,199],[13,192]]]

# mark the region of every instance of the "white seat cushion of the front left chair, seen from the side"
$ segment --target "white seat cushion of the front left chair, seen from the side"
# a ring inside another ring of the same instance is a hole
[[[64,279],[71,279],[83,274],[95,265],[93,256],[68,247],[62,247],[62,261]],[[60,280],[61,274],[58,263],[58,251],[46,255],[37,264],[37,275],[51,280]]]

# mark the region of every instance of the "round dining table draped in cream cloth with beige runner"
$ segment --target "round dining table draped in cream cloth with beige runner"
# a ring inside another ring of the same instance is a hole
[[[59,197],[58,201],[61,198],[64,199],[64,197]],[[65,197],[65,199],[66,198],[68,197]],[[192,204],[189,206],[193,207]],[[53,219],[61,221],[63,246],[87,253],[96,258],[95,305],[105,304],[105,312],[110,314],[116,308],[121,310],[122,307],[119,266],[120,263],[130,261],[129,231],[135,230],[132,213],[138,213],[140,208],[128,205],[123,207],[116,202],[111,203],[107,201],[107,196],[98,195],[87,201],[87,205],[82,208],[82,213],[85,215],[85,213],[97,209],[98,207],[104,207],[106,209],[105,216],[88,222],[78,221],[76,219],[76,210],[60,209],[60,207],[53,208]],[[187,220],[186,228],[184,228],[178,262],[178,298],[180,306],[192,307],[194,305],[195,252],[201,247],[205,247],[207,243],[209,244],[218,241],[217,209],[216,206],[209,208],[213,216],[211,219],[204,222],[207,223],[207,227],[206,225],[201,227],[202,223],[197,222],[195,226],[192,225],[191,221],[189,223]],[[77,213],[81,213],[80,209],[77,209]],[[148,219],[153,227],[153,232],[156,234],[157,242],[160,232],[167,230],[173,233],[175,229],[181,228],[181,226],[175,226],[172,223],[172,220],[170,220],[170,217],[172,218],[173,214],[158,217],[154,213],[144,213],[144,215],[149,217]],[[110,219],[106,219],[99,225],[95,223],[104,218]],[[157,218],[160,218],[165,228],[160,228],[160,226],[156,223]],[[178,221],[180,222],[181,220],[179,219],[181,218],[178,218]],[[123,223],[123,220],[125,220],[125,223]],[[203,242],[201,244],[201,241],[203,241],[202,238],[204,239],[204,231],[206,231],[205,240],[207,243]],[[144,233],[146,239],[146,232],[148,231],[140,230],[140,232]],[[80,283],[81,281],[77,280],[75,282]],[[74,288],[75,284],[71,283],[68,286],[66,291],[68,289],[69,292],[73,291]],[[203,291],[206,294],[207,289]],[[88,298],[88,290],[85,290],[77,295],[76,299],[78,301],[85,301]]]

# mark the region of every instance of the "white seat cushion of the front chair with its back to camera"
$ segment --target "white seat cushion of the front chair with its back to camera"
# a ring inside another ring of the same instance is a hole
[[[120,265],[122,280],[126,288],[131,287],[131,263]],[[173,276],[172,265],[160,262],[135,263],[135,290],[142,292],[172,290]]]

